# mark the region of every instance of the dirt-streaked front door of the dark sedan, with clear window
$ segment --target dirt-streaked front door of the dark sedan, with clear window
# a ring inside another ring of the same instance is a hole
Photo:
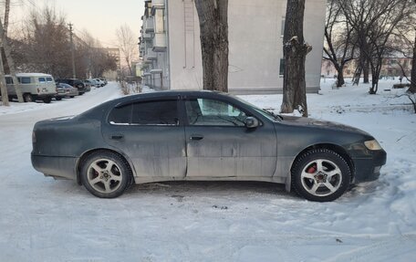
[[[225,100],[186,98],[187,177],[271,177],[276,170],[276,131],[272,123],[245,127],[251,113]]]

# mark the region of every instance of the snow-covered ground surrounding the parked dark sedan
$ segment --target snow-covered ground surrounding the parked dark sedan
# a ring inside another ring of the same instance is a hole
[[[311,117],[359,127],[388,152],[380,180],[332,203],[273,183],[150,183],[99,199],[30,163],[36,121],[119,97],[115,83],[72,100],[0,107],[0,261],[414,261],[416,114],[381,83],[308,95]],[[281,95],[242,96],[278,111]]]

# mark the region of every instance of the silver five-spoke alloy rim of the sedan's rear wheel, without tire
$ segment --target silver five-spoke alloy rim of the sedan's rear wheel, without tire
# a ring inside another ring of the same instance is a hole
[[[116,162],[99,159],[89,164],[87,179],[99,193],[110,194],[120,188],[122,173]]]

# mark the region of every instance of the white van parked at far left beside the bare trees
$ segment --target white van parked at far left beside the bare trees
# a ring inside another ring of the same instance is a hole
[[[43,100],[45,103],[49,103],[57,94],[57,86],[51,75],[42,73],[19,73],[16,74],[16,77],[20,83],[20,89],[22,90],[25,102]],[[12,76],[6,75],[5,83],[8,97],[10,99],[16,99],[16,89]]]

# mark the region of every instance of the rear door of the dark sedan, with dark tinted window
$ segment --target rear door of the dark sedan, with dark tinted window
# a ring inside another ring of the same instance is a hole
[[[178,100],[146,100],[114,108],[105,140],[127,155],[142,182],[182,179],[186,173],[184,127]]]

